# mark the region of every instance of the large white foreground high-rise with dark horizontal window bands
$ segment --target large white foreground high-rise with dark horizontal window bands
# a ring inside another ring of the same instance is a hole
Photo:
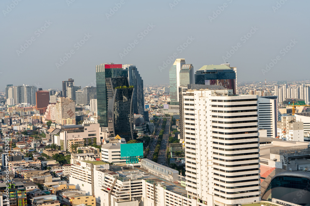
[[[182,96],[186,190],[208,205],[261,199],[258,96],[232,94],[200,89]]]

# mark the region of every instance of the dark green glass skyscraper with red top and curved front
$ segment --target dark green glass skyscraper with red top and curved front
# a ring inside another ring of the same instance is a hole
[[[111,136],[133,139],[133,86],[121,64],[96,65],[97,110],[100,127]]]

